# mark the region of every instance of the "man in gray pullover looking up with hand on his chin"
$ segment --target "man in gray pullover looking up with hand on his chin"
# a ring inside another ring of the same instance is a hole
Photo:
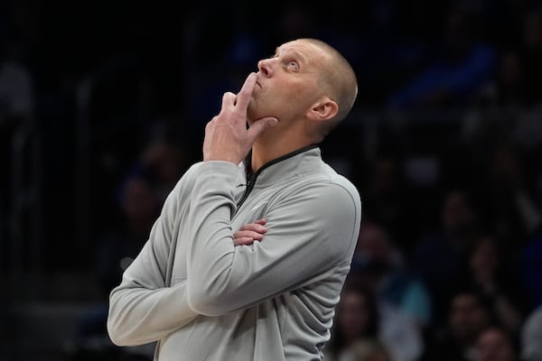
[[[286,42],[257,68],[224,94],[203,161],[111,292],[117,345],[158,341],[160,361],[322,359],[361,204],[318,143],[349,114],[356,77],[313,39]]]

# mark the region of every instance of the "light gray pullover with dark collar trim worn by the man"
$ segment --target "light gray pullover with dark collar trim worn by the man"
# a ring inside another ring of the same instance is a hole
[[[320,149],[259,174],[248,199],[243,165],[194,164],[164,203],[140,255],[111,292],[117,345],[158,340],[155,359],[321,360],[350,270],[360,195]],[[261,242],[233,245],[266,218]]]

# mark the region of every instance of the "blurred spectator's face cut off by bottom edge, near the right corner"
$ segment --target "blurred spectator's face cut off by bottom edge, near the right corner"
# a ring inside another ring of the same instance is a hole
[[[475,361],[516,361],[516,351],[509,336],[498,328],[481,332],[475,346]]]

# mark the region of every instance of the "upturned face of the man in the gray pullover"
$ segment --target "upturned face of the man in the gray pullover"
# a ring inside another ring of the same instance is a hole
[[[325,53],[310,42],[286,42],[272,58],[258,62],[257,84],[248,106],[248,122],[275,116],[287,127],[304,116],[322,91],[318,80]]]

